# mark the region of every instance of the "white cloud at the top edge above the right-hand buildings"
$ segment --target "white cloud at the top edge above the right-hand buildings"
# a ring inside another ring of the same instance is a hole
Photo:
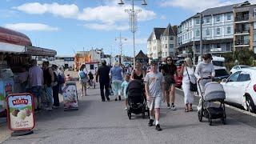
[[[210,7],[217,7],[217,6],[226,6],[235,3],[239,3],[239,0],[230,0],[223,2],[222,0],[165,0],[162,1],[160,6],[174,6],[174,7],[181,7],[185,10],[192,10],[194,12],[199,12],[202,10],[206,10]]]

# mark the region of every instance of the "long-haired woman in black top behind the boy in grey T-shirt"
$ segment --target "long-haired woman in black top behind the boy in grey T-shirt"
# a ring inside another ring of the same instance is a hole
[[[175,77],[177,74],[177,66],[174,65],[173,58],[167,57],[167,63],[162,66],[162,74],[165,77],[165,91],[166,91],[166,102],[167,108],[171,108],[172,110],[176,110],[174,106],[175,101]],[[171,106],[170,106],[171,102]]]

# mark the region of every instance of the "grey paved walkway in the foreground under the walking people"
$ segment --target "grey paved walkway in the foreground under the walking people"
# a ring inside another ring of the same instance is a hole
[[[178,110],[162,105],[162,131],[147,126],[148,119],[133,115],[129,120],[123,102],[100,102],[99,90],[79,97],[78,111],[42,112],[34,134],[12,137],[3,143],[255,143],[256,129],[227,116],[227,125],[198,122],[197,112],[185,113],[183,97],[177,95]],[[80,95],[80,94],[79,94]],[[196,106],[194,106],[196,110]]]

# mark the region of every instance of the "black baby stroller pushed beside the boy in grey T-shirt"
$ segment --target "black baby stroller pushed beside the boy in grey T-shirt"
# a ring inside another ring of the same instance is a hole
[[[128,95],[128,118],[131,118],[131,114],[142,114],[142,118],[145,118],[145,113],[150,115],[150,111],[146,110],[146,95],[144,89],[144,83],[142,80],[132,80],[127,89]]]

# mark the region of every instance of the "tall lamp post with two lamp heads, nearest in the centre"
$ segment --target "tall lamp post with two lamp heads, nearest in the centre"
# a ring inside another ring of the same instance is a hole
[[[135,69],[135,32],[138,30],[138,26],[137,26],[137,23],[138,23],[138,13],[141,12],[142,10],[134,10],[134,1],[143,1],[142,2],[142,6],[146,6],[147,3],[146,3],[146,0],[130,0],[132,2],[132,10],[125,10],[126,13],[129,14],[130,16],[130,31],[133,33],[133,36],[134,36],[134,69]],[[118,2],[118,4],[120,6],[124,5],[125,3],[120,0]]]

